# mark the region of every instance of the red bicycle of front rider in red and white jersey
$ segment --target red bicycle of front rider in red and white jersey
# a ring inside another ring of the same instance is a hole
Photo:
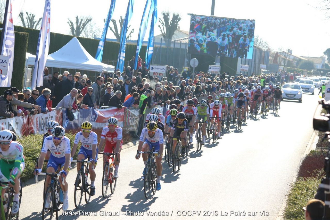
[[[115,156],[114,153],[108,153],[108,152],[101,152],[99,154],[103,154],[107,156],[107,162],[104,165],[103,168],[103,175],[102,175],[102,196],[106,197],[108,192],[108,187],[110,183],[110,191],[111,193],[115,193],[116,184],[117,184],[117,178],[114,177],[114,171],[116,168],[115,165]],[[110,163],[111,159],[111,163]],[[117,159],[118,161],[118,159]]]

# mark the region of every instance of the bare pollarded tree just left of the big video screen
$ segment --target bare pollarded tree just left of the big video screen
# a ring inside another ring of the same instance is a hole
[[[163,18],[159,19],[160,25],[158,25],[158,27],[162,33],[163,38],[165,39],[166,46],[168,46],[171,44],[174,32],[178,29],[178,24],[181,20],[181,17],[179,14],[173,13],[171,19],[169,11],[163,11],[162,16]]]

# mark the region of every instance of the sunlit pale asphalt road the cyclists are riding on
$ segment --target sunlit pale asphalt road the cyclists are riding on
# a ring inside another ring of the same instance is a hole
[[[96,194],[88,204],[82,200],[79,209],[74,206],[77,171],[72,170],[67,180],[69,214],[76,216],[60,219],[111,217],[105,214],[119,214],[119,219],[130,219],[127,215],[134,219],[275,219],[313,133],[317,100],[315,90],[315,95],[304,94],[302,103],[283,101],[277,117],[270,112],[264,119],[258,115],[257,120],[248,120],[242,130],[232,127],[216,144],[207,143],[199,152],[194,147],[178,173],[164,162],[162,189],[148,200],[136,147],[121,152],[116,191],[109,198],[102,198],[99,160]],[[43,183],[23,187],[20,219],[41,219],[42,190]]]

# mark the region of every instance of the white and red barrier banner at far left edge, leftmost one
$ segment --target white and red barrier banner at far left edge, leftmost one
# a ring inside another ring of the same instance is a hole
[[[14,131],[17,136],[22,136],[27,134],[29,117],[13,117],[1,119],[1,130],[8,129]]]

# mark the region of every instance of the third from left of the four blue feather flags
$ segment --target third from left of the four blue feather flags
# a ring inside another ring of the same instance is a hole
[[[136,54],[135,54],[135,60],[134,60],[134,68],[133,69],[138,69],[138,55],[140,53],[140,49],[142,47],[143,39],[145,37],[146,31],[147,31],[147,26],[148,26],[148,20],[152,16],[154,4],[151,4],[153,0],[147,0],[145,9],[143,11],[142,15],[142,20],[141,20],[141,25],[140,25],[140,30],[139,30],[139,36],[136,44]]]

